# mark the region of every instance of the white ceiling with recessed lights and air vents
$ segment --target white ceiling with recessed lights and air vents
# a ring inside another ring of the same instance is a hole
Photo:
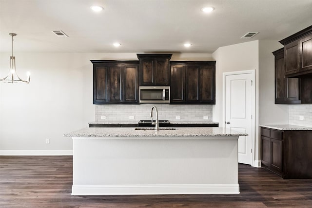
[[[94,13],[95,3],[104,10]],[[204,6],[215,10],[204,14]],[[310,25],[312,0],[0,0],[0,52],[11,51],[8,34],[17,33],[15,52],[211,53]],[[259,34],[241,39],[247,32]]]

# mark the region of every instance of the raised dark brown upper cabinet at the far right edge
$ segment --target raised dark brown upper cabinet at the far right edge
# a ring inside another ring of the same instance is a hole
[[[312,77],[312,26],[279,42],[285,49],[285,77]]]

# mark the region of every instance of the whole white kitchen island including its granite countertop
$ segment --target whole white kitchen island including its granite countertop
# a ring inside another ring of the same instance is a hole
[[[65,134],[73,139],[72,195],[239,193],[237,139],[247,134],[218,127],[146,129]]]

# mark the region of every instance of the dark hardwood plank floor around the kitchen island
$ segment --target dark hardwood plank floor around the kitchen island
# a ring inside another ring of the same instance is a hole
[[[0,156],[0,208],[312,208],[312,180],[242,164],[240,194],[72,196],[72,169],[72,156]]]

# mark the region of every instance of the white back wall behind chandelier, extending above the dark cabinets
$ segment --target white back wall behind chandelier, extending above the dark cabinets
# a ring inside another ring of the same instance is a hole
[[[0,155],[72,150],[72,139],[63,134],[95,121],[90,60],[137,60],[136,53],[15,52],[15,56],[17,73],[26,79],[30,71],[31,83],[0,83]],[[213,59],[206,53],[177,53],[172,60]],[[8,73],[9,61],[10,52],[0,53],[1,78]]]

